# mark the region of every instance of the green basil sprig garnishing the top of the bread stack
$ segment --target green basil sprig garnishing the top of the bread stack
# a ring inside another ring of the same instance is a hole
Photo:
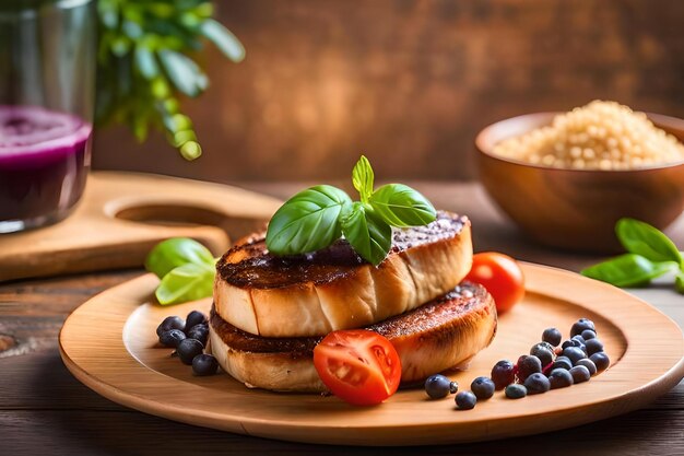
[[[287,200],[269,222],[266,245],[274,255],[306,254],[328,247],[344,236],[368,262],[379,265],[392,245],[392,226],[425,225],[437,217],[433,204],[402,184],[374,190],[370,162],[361,156],[352,184],[361,201],[343,190],[319,185]]]

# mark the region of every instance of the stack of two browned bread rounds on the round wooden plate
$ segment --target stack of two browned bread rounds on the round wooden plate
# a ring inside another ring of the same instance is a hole
[[[247,236],[221,258],[210,317],[214,355],[249,387],[325,391],[312,350],[338,329],[387,337],[401,359],[403,384],[462,364],[496,332],[490,294],[459,284],[472,265],[465,217],[438,212],[428,225],[394,229],[392,248],[377,267],[344,239],[276,257],[264,236]]]

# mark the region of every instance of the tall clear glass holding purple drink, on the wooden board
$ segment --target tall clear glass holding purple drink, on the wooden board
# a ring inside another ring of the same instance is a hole
[[[55,223],[90,168],[95,4],[0,3],[0,233]]]

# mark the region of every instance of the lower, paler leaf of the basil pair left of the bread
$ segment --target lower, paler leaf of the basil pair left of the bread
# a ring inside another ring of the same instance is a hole
[[[211,296],[215,270],[205,264],[187,262],[162,279],[154,295],[160,304],[178,304]]]

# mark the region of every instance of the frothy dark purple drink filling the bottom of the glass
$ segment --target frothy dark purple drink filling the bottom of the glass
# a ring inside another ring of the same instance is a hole
[[[35,106],[0,106],[0,233],[54,223],[83,192],[92,126]]]

